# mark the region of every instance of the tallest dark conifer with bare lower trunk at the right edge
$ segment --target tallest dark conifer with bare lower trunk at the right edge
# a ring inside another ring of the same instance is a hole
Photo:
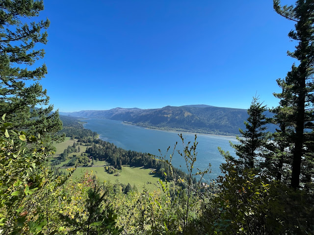
[[[285,79],[277,80],[282,92],[274,95],[280,98],[277,116],[282,122],[289,123],[287,128],[292,130],[291,187],[299,188],[300,180],[311,180],[313,173],[310,148],[314,144],[314,1],[298,0],[295,6],[281,6],[280,0],[274,0],[274,9],[295,22],[295,30],[288,36],[298,41],[295,51],[288,51],[288,55],[299,63],[292,65]]]

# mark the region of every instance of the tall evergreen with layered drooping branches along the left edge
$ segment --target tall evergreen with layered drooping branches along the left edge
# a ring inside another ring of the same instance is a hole
[[[47,43],[45,29],[50,22],[27,23],[43,9],[42,0],[0,1],[0,116],[6,114],[12,129],[40,134],[49,143],[59,138],[55,133],[62,122],[58,112],[52,113],[47,90],[38,82],[47,73],[46,65],[33,66],[44,57],[39,45]]]

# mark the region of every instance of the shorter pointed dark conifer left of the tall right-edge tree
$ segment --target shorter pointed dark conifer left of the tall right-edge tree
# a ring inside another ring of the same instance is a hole
[[[264,146],[267,133],[267,123],[264,112],[266,106],[262,105],[258,97],[253,97],[250,108],[247,110],[249,118],[244,122],[246,130],[239,129],[242,138],[237,137],[240,144],[232,144],[238,159],[232,159],[239,169],[260,167],[263,161]]]

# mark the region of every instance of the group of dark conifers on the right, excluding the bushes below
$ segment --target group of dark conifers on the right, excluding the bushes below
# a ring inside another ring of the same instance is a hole
[[[245,122],[244,139],[234,145],[239,160],[232,159],[238,168],[257,169],[260,174],[283,182],[292,188],[313,192],[314,182],[314,3],[297,1],[296,6],[279,5],[274,9],[283,17],[295,22],[295,30],[288,36],[298,41],[296,50],[288,55],[298,60],[285,79],[277,83],[282,92],[274,94],[280,105],[273,110],[273,118],[266,118],[267,110],[254,98]],[[274,123],[274,133],[265,133],[266,124]]]

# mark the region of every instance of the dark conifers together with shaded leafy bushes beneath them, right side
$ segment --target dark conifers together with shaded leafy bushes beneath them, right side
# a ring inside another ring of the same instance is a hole
[[[314,233],[314,2],[298,0],[295,6],[275,11],[295,22],[288,36],[298,45],[288,55],[298,60],[274,94],[280,105],[266,118],[266,106],[254,97],[248,109],[244,139],[233,145],[237,157],[220,149],[226,158],[218,177],[219,206],[204,211],[213,224],[205,231],[221,234],[313,234]],[[266,133],[274,123],[274,133]],[[213,226],[212,226],[213,225]]]

